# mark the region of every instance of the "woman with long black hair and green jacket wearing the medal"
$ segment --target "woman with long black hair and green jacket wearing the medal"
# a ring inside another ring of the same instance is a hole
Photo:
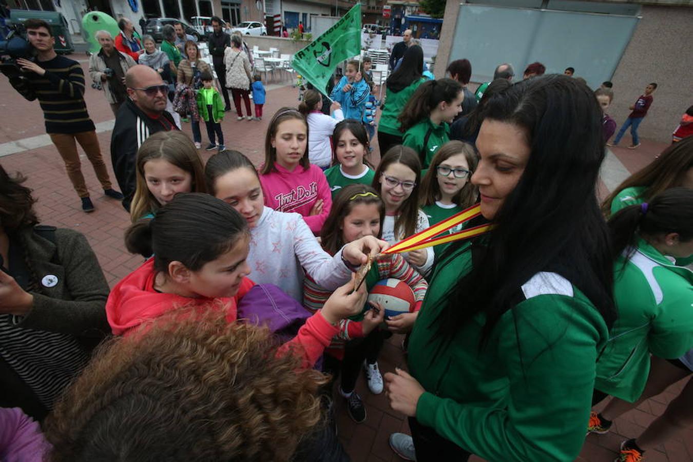
[[[489,100],[471,181],[480,222],[495,228],[441,256],[407,348],[411,375],[385,376],[419,462],[579,454],[615,319],[596,197],[601,118],[592,92],[563,75]],[[406,435],[390,443],[414,456]]]

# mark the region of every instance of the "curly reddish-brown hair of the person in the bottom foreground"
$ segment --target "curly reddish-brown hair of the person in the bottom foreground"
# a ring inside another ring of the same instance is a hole
[[[46,419],[47,460],[290,460],[326,379],[225,312],[182,307],[101,346]]]

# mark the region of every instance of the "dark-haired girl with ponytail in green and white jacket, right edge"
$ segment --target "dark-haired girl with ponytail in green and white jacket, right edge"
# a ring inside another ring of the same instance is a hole
[[[693,272],[672,260],[693,254],[692,217],[693,190],[669,188],[649,202],[622,208],[608,222],[618,318],[597,360],[593,405],[608,395],[615,399],[600,414],[592,413],[588,432],[608,432],[611,420],[690,375],[693,355],[686,353],[693,348]],[[685,416],[667,422],[692,418],[693,387],[679,398],[687,404],[667,414]],[[629,440],[621,452],[642,455],[663,439]]]

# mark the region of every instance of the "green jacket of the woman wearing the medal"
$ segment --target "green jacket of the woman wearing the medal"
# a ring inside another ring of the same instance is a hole
[[[416,419],[489,461],[573,461],[608,335],[604,319],[570,281],[542,272],[521,287],[484,349],[482,316],[443,346],[431,323],[470,269],[469,244],[444,256],[414,324],[408,364],[426,389]]]

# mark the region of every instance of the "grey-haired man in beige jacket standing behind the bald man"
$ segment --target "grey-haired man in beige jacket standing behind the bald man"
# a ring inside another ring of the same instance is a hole
[[[94,85],[91,86],[96,89],[103,88],[113,115],[117,116],[118,109],[128,98],[125,73],[137,63],[129,55],[116,50],[113,37],[108,30],[98,30],[94,36],[101,49],[89,57],[89,75],[94,81]]]

